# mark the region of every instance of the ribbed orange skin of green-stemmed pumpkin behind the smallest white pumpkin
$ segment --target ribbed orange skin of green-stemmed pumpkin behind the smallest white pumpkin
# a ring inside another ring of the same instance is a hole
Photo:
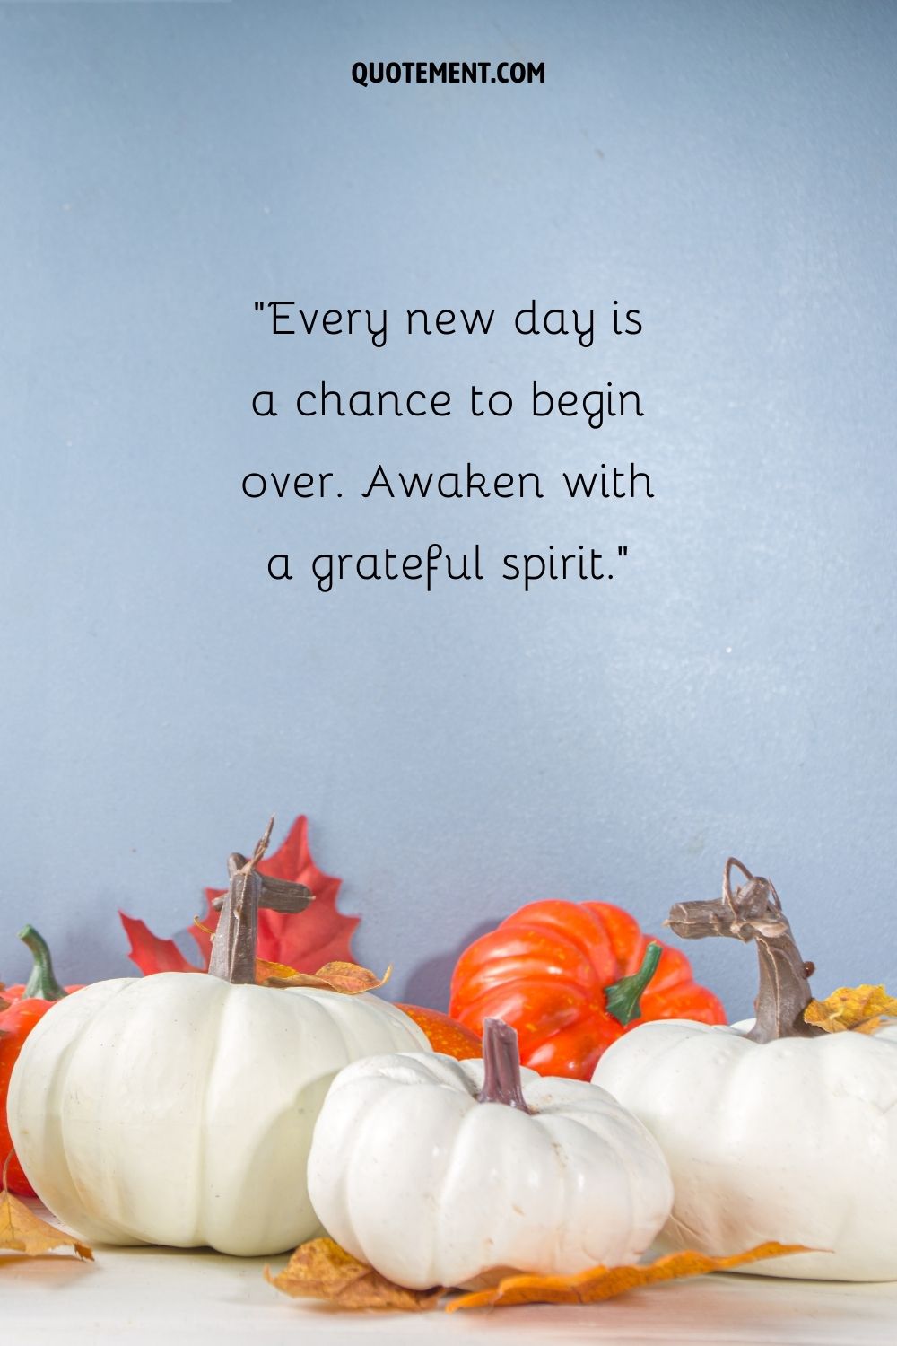
[[[611,1043],[648,1019],[725,1023],[722,1003],[662,940],[641,1018],[624,1028],[608,1014],[605,988],[637,972],[652,940],[609,902],[530,902],[464,950],[449,1014],[479,1034],[484,1019],[504,1019],[524,1066],[572,1079],[590,1079]]]

